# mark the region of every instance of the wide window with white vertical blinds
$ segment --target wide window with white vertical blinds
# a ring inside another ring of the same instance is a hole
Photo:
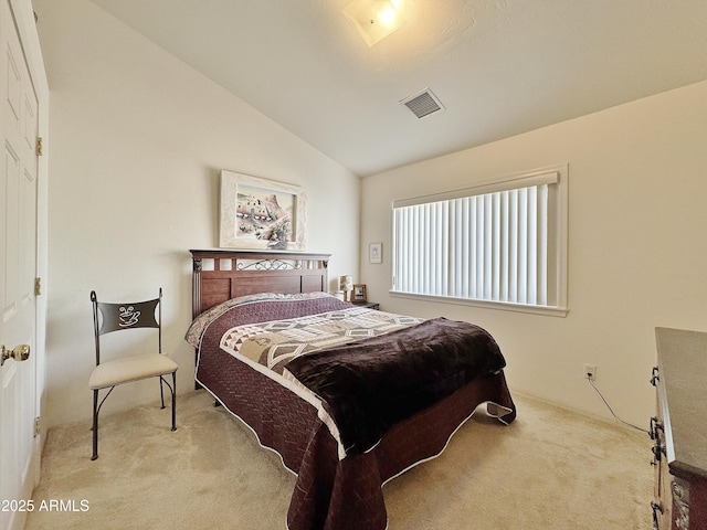
[[[567,314],[567,166],[393,202],[393,296]]]

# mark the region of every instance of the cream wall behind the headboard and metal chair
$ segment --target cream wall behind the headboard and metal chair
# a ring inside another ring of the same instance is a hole
[[[89,292],[165,289],[165,346],[193,389],[189,248],[218,246],[219,172],[304,187],[307,248],[358,273],[360,180],[85,0],[35,0],[51,91],[49,425],[91,417]],[[329,204],[337,198],[336,222]],[[347,234],[341,237],[340,234]],[[105,413],[157,399],[119,388]],[[88,435],[87,435],[88,436]]]

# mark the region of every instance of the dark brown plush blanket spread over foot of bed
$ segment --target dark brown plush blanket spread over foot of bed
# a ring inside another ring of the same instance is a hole
[[[486,330],[436,318],[296,358],[286,369],[323,400],[346,453],[360,454],[399,421],[505,365]]]

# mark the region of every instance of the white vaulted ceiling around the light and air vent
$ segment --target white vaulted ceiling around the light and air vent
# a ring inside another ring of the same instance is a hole
[[[400,0],[371,47],[349,0],[93,2],[361,177],[707,80],[705,0]]]

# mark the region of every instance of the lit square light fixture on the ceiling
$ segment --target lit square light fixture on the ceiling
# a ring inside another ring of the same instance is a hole
[[[400,0],[354,0],[341,8],[341,13],[369,47],[405,25],[400,17]]]

